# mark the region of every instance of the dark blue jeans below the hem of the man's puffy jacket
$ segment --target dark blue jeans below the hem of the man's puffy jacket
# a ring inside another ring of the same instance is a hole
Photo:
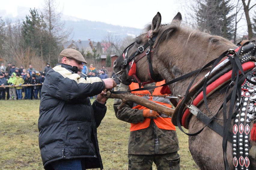
[[[57,160],[51,166],[54,170],[86,170],[80,159]]]

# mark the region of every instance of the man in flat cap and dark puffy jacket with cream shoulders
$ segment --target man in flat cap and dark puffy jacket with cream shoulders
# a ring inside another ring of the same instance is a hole
[[[58,62],[48,71],[41,90],[38,130],[44,169],[103,169],[96,128],[107,110],[103,90],[116,83],[81,78],[77,72],[87,62],[77,50],[62,50]],[[89,97],[95,95],[91,105]]]

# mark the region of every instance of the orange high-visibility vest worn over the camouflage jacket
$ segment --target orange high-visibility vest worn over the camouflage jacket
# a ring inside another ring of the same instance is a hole
[[[165,83],[165,80],[161,81],[161,82],[157,82],[156,86],[160,86],[162,84]],[[137,89],[139,88],[139,84],[138,83],[131,83],[129,85],[131,90]],[[158,87],[154,89],[153,95],[162,95],[160,93],[162,87]],[[143,91],[133,91],[133,93],[139,93],[139,94],[150,94],[150,92],[148,90],[143,90]],[[172,107],[172,105],[170,105],[170,101],[169,99],[165,99],[163,97],[152,97],[152,96],[141,96],[144,97],[148,100],[151,100],[153,102],[156,102],[160,105],[165,105],[169,108]],[[138,105],[136,103],[133,103],[133,109],[146,109],[144,106]],[[145,118],[144,122],[139,122],[139,123],[131,123],[131,127],[130,127],[130,131],[137,131],[140,129],[145,129],[148,128],[149,124],[150,124],[150,118]],[[153,119],[155,124],[157,125],[158,128],[160,129],[166,129],[166,130],[176,130],[175,126],[172,124],[171,118],[163,118],[163,117],[157,117],[156,119]]]

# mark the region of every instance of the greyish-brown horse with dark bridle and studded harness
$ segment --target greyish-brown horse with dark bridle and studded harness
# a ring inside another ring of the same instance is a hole
[[[148,82],[156,82],[162,79],[169,82],[202,68],[228,49],[238,47],[221,36],[211,35],[206,31],[202,32],[181,25],[181,20],[181,14],[178,13],[171,23],[161,24],[160,13],[158,12],[154,16],[152,24],[147,25],[144,33],[136,37],[135,42],[129,45],[123,54],[114,61],[113,70],[120,73],[119,81],[121,83],[130,85],[131,82],[137,82],[143,86]],[[142,55],[142,53],[144,54]],[[150,55],[147,55],[148,53]],[[201,77],[205,76],[210,70],[211,67],[207,67],[198,73],[193,85],[200,81]],[[134,73],[130,74],[129,71]],[[172,95],[184,96],[193,78],[194,76],[188,76],[178,82],[169,84],[168,87]],[[207,105],[212,113],[218,112],[223,104],[224,96],[224,93],[217,90],[207,97]],[[227,103],[228,107],[229,102]],[[201,103],[198,108],[208,117],[212,117],[205,103]],[[218,114],[216,118],[215,122],[223,126],[223,114]],[[205,124],[194,115],[189,117],[187,127],[189,133],[197,133],[204,126]],[[233,123],[229,125],[230,131],[232,131],[232,128]],[[250,128],[252,128],[252,123]],[[237,169],[234,164],[237,163],[238,159],[234,161],[230,141],[227,142],[225,154],[228,166],[225,165],[222,141],[223,137],[208,126],[201,133],[189,136],[189,150],[200,169],[226,169],[226,167]],[[251,146],[256,144],[255,141],[251,140],[249,143]]]

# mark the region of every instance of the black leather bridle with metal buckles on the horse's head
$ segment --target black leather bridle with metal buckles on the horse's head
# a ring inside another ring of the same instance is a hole
[[[154,45],[154,42],[157,39],[157,35],[154,36],[153,38],[151,37],[151,30],[148,31],[148,42],[146,44],[144,44],[143,46],[139,46],[138,49],[136,50],[136,52],[134,52],[130,57],[127,57],[129,48],[134,44],[130,44],[123,52],[123,64],[121,66],[121,74],[123,73],[124,69],[126,68],[126,66],[129,64],[130,67],[132,66],[133,63],[138,62],[140,59],[142,59],[144,56],[147,56],[148,59],[148,72],[149,72],[149,77],[151,79],[151,81],[147,81],[147,82],[142,82],[139,80],[139,78],[136,76],[136,74],[133,75],[133,79],[132,82],[138,82],[141,86],[144,86],[146,84],[152,83],[152,82],[159,82],[162,81],[162,78],[158,78],[157,76],[155,76],[154,71],[153,71],[153,67],[152,67],[152,52],[153,50],[151,50],[152,46]],[[146,48],[148,48],[148,50],[145,50]],[[129,67],[128,67],[129,68]],[[129,68],[130,70],[130,68]],[[128,71],[129,71],[128,70]]]

